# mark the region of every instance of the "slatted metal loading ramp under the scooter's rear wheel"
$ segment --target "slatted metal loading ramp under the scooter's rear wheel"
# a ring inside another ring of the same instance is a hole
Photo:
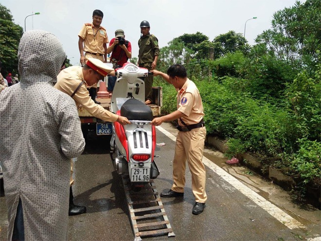
[[[141,237],[175,234],[169,223],[160,195],[153,180],[142,190],[131,190],[128,176],[122,176],[130,221],[134,233],[134,241],[142,241]]]

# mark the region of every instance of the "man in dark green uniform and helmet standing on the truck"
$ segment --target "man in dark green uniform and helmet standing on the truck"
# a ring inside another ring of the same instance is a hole
[[[144,20],[141,22],[141,38],[138,40],[139,54],[138,65],[150,70],[154,70],[157,65],[158,56],[160,55],[160,47],[158,39],[149,33],[149,22]],[[145,82],[145,104],[152,103],[153,75],[144,77]]]

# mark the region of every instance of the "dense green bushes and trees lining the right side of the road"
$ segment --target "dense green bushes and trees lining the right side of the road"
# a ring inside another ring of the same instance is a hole
[[[271,29],[249,46],[233,31],[210,41],[202,33],[174,38],[160,51],[159,70],[186,66],[201,93],[208,135],[228,140],[227,155],[259,154],[297,182],[297,196],[321,185],[321,1],[276,12]],[[176,92],[160,78],[164,114]]]

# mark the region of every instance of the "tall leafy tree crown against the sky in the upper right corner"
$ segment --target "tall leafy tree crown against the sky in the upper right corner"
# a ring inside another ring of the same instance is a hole
[[[321,1],[297,1],[293,7],[273,15],[272,27],[259,35],[255,41],[267,46],[279,59],[301,69],[315,69],[320,62],[321,50]]]

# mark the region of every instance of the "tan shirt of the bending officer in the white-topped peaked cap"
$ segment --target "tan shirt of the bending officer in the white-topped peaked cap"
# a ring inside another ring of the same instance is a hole
[[[82,67],[71,66],[62,70],[57,76],[57,83],[54,88],[62,91],[71,96],[71,94],[77,89],[81,81],[84,80]],[[76,102],[76,106],[82,105],[92,116],[99,118],[107,122],[115,122],[118,119],[118,115],[110,111],[105,110],[102,106],[95,104],[90,98],[87,90],[86,82],[79,88],[73,100]]]

